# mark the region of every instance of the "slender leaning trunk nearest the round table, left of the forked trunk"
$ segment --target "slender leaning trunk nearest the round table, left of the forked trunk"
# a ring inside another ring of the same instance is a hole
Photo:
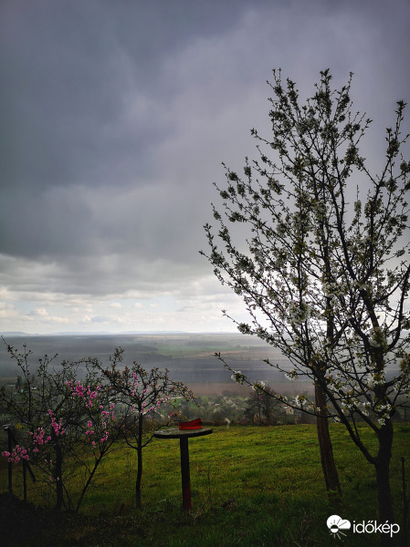
[[[318,431],[319,449],[321,450],[321,469],[326,484],[326,490],[337,491],[342,497],[342,489],[339,482],[339,475],[333,458],[333,449],[331,446],[331,434],[329,432],[329,422],[326,416],[326,397],[320,384],[315,383],[315,404],[320,408],[319,416],[316,418],[316,428]]]

